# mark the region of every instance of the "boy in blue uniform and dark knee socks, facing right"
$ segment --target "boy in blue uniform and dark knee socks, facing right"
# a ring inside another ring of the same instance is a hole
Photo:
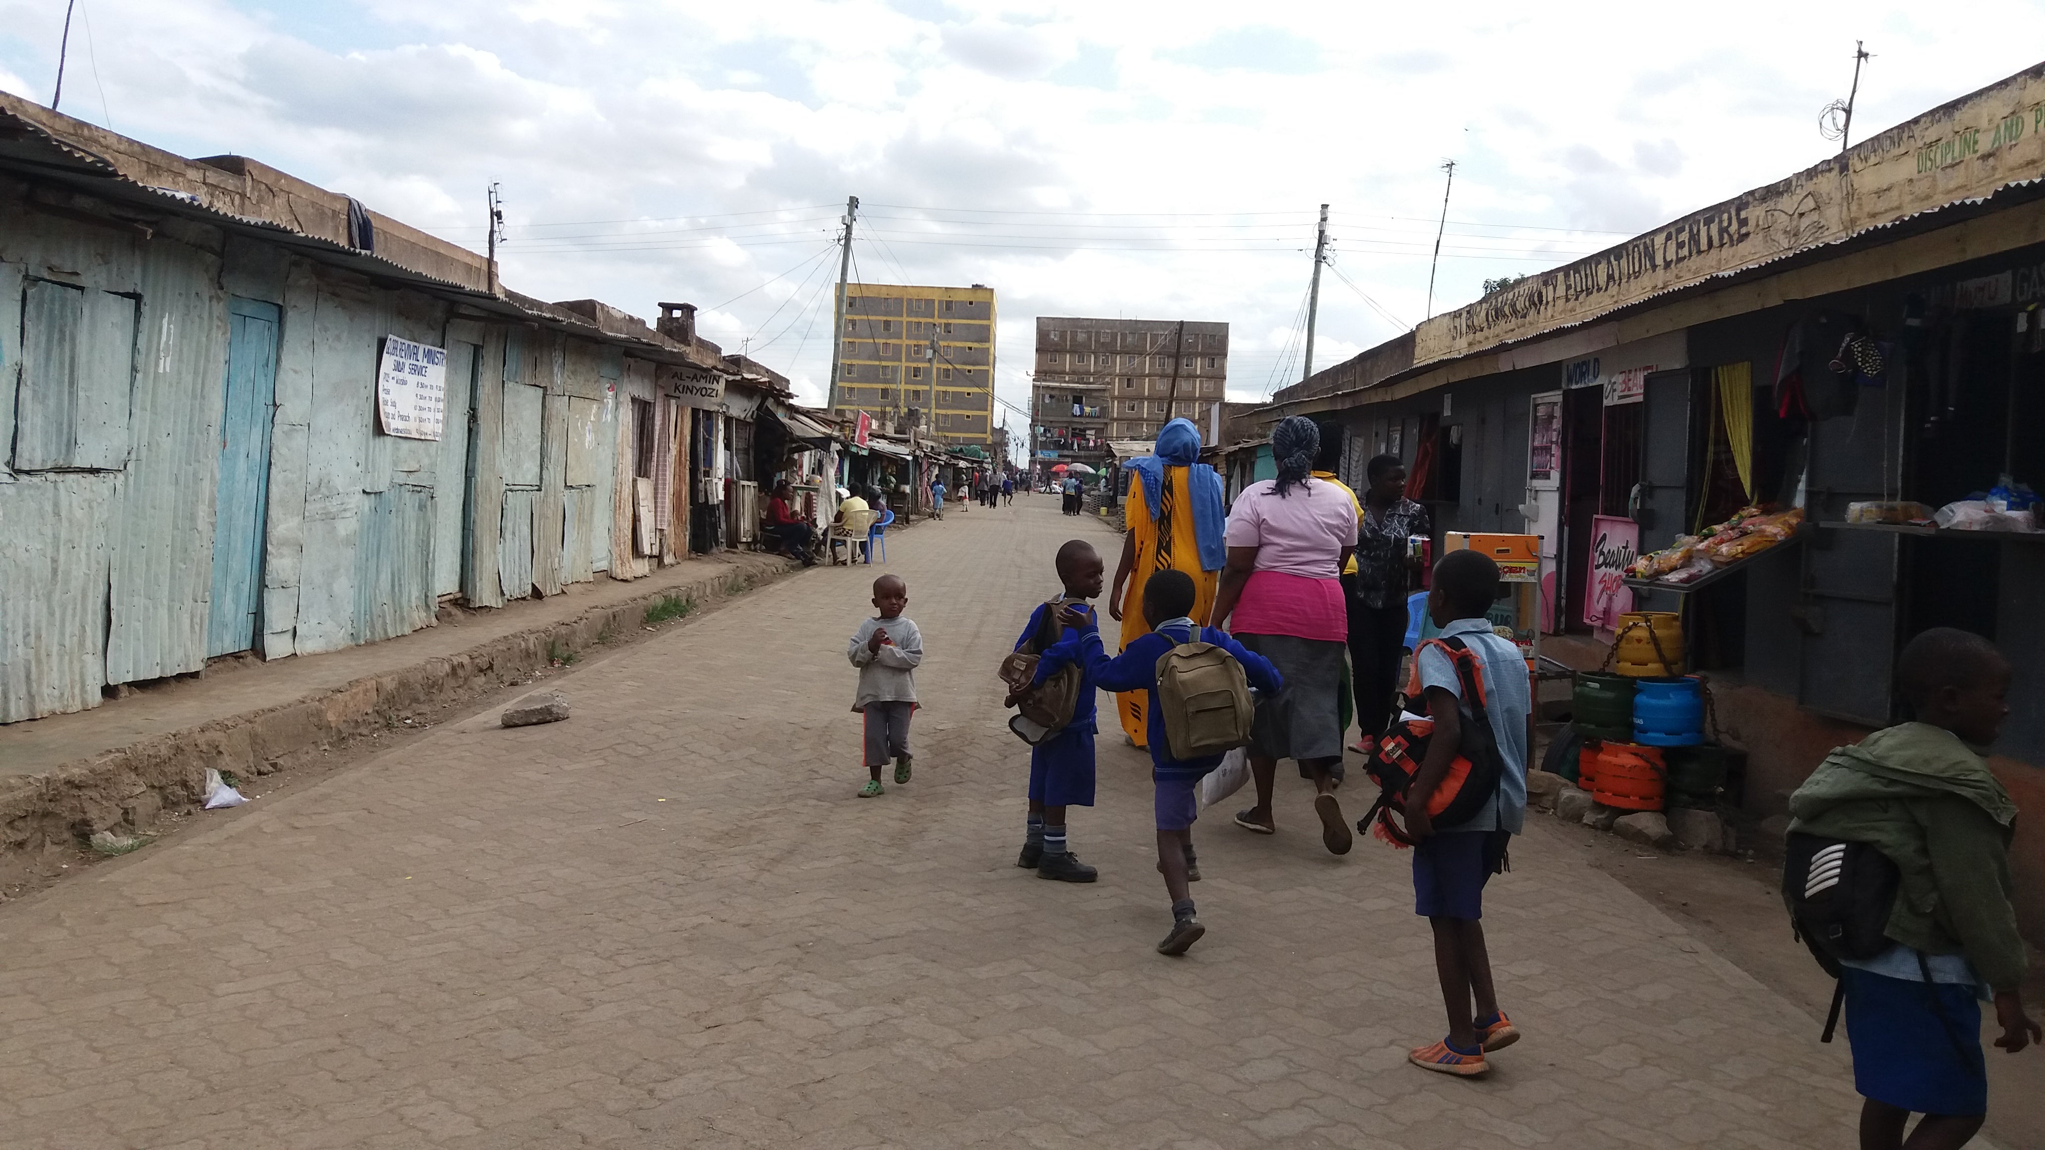
[[[1100,552],[1094,544],[1084,538],[1067,540],[1065,546],[1057,548],[1057,581],[1065,587],[1057,602],[1057,610],[1070,612],[1072,604],[1084,606],[1086,600],[1100,595],[1100,583],[1106,579],[1106,565],[1100,561]],[[1022,651],[1037,634],[1047,626],[1045,612],[1055,610],[1051,604],[1037,604],[1031,612],[1029,622],[1022,626],[1022,636],[1016,638],[1014,649]],[[1051,651],[1067,651],[1059,667],[1076,663],[1072,653],[1078,649],[1078,630],[1061,614],[1063,630],[1059,640],[1043,653],[1039,667],[1051,661]],[[1082,671],[1084,673],[1084,671]],[[1043,671],[1037,681],[1043,683]],[[1096,868],[1090,868],[1072,853],[1072,845],[1065,841],[1065,808],[1067,806],[1092,806],[1094,804],[1094,681],[1092,677],[1082,677],[1080,700],[1072,708],[1072,722],[1067,722],[1057,735],[1045,739],[1043,743],[1031,747],[1029,753],[1029,821],[1022,839],[1022,853],[1016,855],[1016,866],[1035,868],[1037,878],[1053,878],[1057,882],[1094,882],[1100,878]]]

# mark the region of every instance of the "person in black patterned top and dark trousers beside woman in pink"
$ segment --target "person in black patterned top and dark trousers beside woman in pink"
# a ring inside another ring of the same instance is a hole
[[[1364,518],[1356,530],[1356,575],[1350,583],[1350,675],[1356,688],[1356,751],[1376,749],[1391,724],[1405,651],[1411,563],[1407,536],[1432,534],[1427,510],[1405,497],[1405,465],[1380,454],[1364,467]]]

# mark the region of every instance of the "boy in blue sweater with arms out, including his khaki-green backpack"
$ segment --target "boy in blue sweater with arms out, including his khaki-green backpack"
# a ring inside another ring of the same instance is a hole
[[[1249,688],[1278,694],[1278,669],[1262,655],[1235,643],[1227,632],[1200,626],[1188,614],[1194,604],[1192,577],[1157,571],[1143,583],[1143,618],[1151,632],[1108,659],[1092,612],[1065,608],[1065,624],[1078,628],[1078,657],[1088,679],[1104,692],[1149,692],[1153,722],[1164,737],[1149,739],[1151,784],[1157,812],[1157,872],[1172,894],[1172,933],[1157,954],[1180,956],[1207,927],[1194,917],[1190,882],[1200,878],[1192,853],[1192,823],[1200,814],[1200,778],[1221,765],[1229,747],[1249,743]],[[1037,663],[1037,681],[1074,657],[1070,647],[1053,649]]]

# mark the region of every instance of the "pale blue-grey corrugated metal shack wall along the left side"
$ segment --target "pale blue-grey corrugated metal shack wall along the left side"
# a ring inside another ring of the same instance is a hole
[[[231,297],[276,307],[268,491],[229,495],[262,503],[266,659],[431,626],[446,593],[499,606],[632,559],[620,391],[646,364],[452,319],[256,239],[143,239],[0,198],[0,536],[27,540],[0,548],[0,722],[204,665]],[[450,352],[438,442],[380,434],[387,334]]]

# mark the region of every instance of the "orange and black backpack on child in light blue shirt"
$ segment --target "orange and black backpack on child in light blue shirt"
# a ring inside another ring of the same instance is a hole
[[[1499,741],[1485,712],[1483,659],[1456,634],[1429,638],[1419,645],[1419,651],[1427,647],[1440,647],[1448,653],[1462,688],[1462,700],[1456,708],[1462,718],[1462,739],[1456,757],[1448,763],[1448,776],[1427,796],[1427,816],[1434,823],[1454,827],[1474,819],[1485,802],[1497,794],[1499,778],[1505,776],[1505,759],[1499,755]],[[1413,653],[1415,663],[1419,663],[1419,651]],[[1434,743],[1432,718],[1395,722],[1378,739],[1376,751],[1364,763],[1364,773],[1378,784],[1378,800],[1356,821],[1358,831],[1376,835],[1399,849],[1413,845],[1413,837],[1405,829],[1405,796],[1413,788],[1413,778],[1419,776],[1419,765],[1427,759],[1429,743]]]

